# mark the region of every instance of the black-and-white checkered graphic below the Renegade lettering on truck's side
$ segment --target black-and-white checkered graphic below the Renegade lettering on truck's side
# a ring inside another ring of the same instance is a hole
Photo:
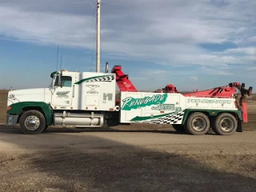
[[[145,120],[135,123],[146,123],[146,124],[181,124],[185,110],[178,112],[177,114],[166,115],[162,118],[156,118],[151,120]]]

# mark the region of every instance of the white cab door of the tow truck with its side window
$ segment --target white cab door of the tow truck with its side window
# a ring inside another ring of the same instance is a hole
[[[58,76],[54,83],[54,93],[52,94],[52,105],[53,106],[71,106],[73,98],[73,77],[62,76],[61,85],[58,85]]]

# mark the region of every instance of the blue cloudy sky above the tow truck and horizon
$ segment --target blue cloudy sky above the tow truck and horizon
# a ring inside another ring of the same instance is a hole
[[[0,89],[96,71],[96,2],[0,0]],[[122,66],[138,90],[256,89],[255,10],[254,0],[102,0],[101,71]]]

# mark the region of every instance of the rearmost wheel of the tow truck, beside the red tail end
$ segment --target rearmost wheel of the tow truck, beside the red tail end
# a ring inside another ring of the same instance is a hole
[[[223,124],[222,124],[223,123]],[[230,135],[238,128],[238,121],[233,114],[219,114],[213,123],[213,130],[219,135]]]

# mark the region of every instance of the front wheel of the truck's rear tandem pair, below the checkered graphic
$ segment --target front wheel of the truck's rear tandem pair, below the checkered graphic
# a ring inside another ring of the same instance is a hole
[[[198,121],[198,125],[194,125],[195,121]],[[206,116],[206,114],[195,112],[190,114],[190,117],[187,118],[185,129],[189,134],[206,134],[210,130],[210,119]]]

